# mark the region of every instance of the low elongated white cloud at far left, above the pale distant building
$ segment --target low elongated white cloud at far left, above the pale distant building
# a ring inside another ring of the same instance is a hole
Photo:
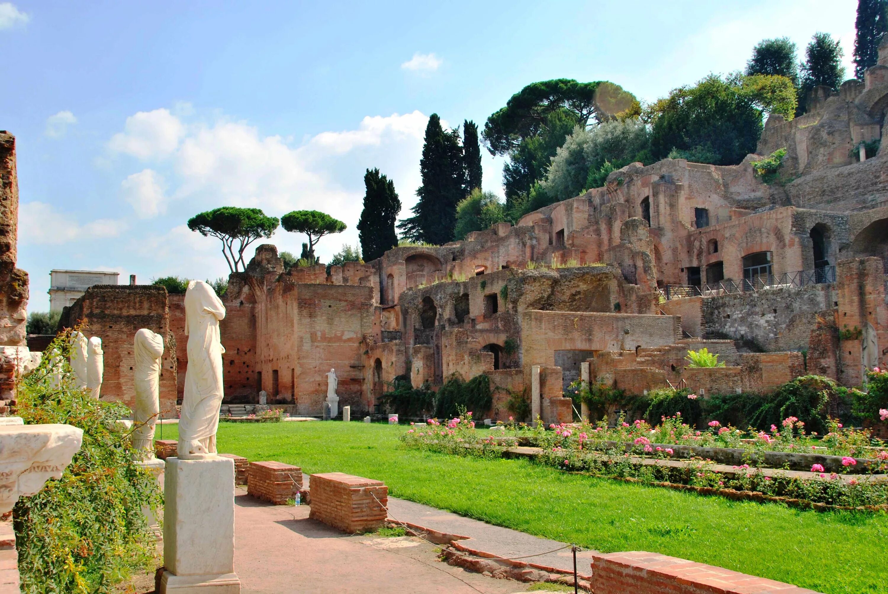
[[[111,218],[99,218],[80,225],[71,215],[59,212],[45,202],[25,202],[19,207],[19,242],[22,244],[85,242],[116,237],[126,228],[125,222]]]

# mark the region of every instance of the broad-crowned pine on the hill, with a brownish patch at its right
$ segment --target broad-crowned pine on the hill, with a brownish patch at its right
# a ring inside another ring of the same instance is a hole
[[[531,83],[488,117],[482,138],[490,154],[508,154],[503,168],[506,202],[529,194],[555,151],[576,125],[603,122],[638,109],[638,100],[607,81],[578,83],[559,78]]]

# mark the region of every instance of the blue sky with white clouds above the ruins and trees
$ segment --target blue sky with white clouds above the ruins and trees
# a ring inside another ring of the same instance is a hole
[[[534,81],[611,80],[653,100],[742,68],[760,39],[804,51],[816,31],[842,40],[850,76],[856,6],[0,2],[0,129],[18,142],[29,309],[48,308],[52,268],[225,275],[218,241],[185,226],[222,205],[341,218],[326,261],[357,243],[366,168],[394,180],[407,216],[427,116],[483,124]],[[498,194],[502,164],[486,154]]]

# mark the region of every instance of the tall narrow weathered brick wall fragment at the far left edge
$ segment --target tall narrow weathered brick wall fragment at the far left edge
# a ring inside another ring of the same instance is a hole
[[[15,137],[0,131],[0,346],[26,344],[28,273],[15,267],[18,233]]]

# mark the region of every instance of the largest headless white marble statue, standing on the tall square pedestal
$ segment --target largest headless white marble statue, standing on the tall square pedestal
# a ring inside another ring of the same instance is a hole
[[[178,458],[195,460],[216,455],[216,430],[222,405],[222,353],[219,321],[225,305],[204,281],[190,281],[185,293],[188,368],[178,421]]]

